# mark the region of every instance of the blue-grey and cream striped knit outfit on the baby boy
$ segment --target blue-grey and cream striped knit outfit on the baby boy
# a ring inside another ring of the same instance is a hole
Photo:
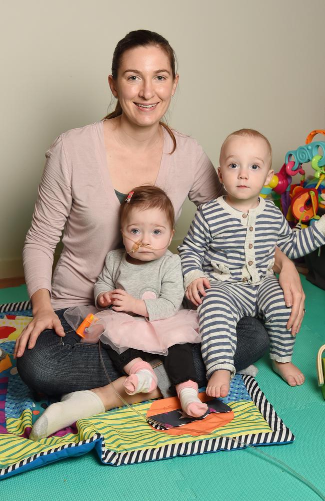
[[[199,206],[178,250],[185,290],[199,277],[210,281],[197,308],[207,379],[218,369],[235,373],[236,324],[244,316],[263,320],[271,359],[291,360],[295,338],[285,327],[291,309],[273,275],[275,245],[289,258],[298,258],[324,244],[324,235],[325,216],[292,231],[280,210],[264,198],[248,213],[228,205],[224,196]]]

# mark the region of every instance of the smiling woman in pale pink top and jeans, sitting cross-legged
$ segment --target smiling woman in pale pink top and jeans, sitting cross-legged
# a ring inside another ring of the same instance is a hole
[[[118,100],[115,111],[100,122],[62,134],[46,153],[23,250],[34,318],[14,351],[19,374],[30,387],[47,394],[97,387],[94,391],[106,410],[120,401],[110,385],[103,387],[107,378],[98,347],[79,342],[63,319],[63,309],[93,302],[93,284],[105,255],[119,246],[119,203],[133,186],[151,183],[163,188],[176,219],[186,196],[198,205],[221,191],[196,141],[161,122],[178,83],[174,53],[164,38],[146,30],[126,35],[114,51],[108,83]],[[64,247],[51,285],[53,252],[63,227]],[[280,252],[276,271],[281,271],[286,304],[292,305],[288,328],[298,332],[304,295],[294,266]],[[257,320],[245,318],[238,323],[237,338],[234,364],[239,370],[260,358],[267,335]],[[102,355],[109,377],[116,380],[119,374],[104,351]],[[197,347],[194,355],[203,382]],[[161,367],[155,370],[163,390],[168,383]],[[123,398],[140,401],[142,394],[124,393],[123,380],[114,383]],[[142,399],[159,395],[155,390]]]

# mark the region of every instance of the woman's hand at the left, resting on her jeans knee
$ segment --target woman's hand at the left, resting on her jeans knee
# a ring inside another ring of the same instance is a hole
[[[39,310],[34,315],[30,324],[24,328],[16,340],[13,357],[21,357],[25,351],[27,343],[29,350],[33,348],[39,334],[45,329],[53,329],[58,336],[65,336],[61,322],[52,308]]]

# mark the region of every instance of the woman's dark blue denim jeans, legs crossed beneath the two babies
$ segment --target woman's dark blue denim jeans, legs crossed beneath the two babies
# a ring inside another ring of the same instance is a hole
[[[109,382],[100,362],[98,345],[80,343],[80,337],[66,323],[64,311],[57,310],[56,314],[66,333],[65,337],[61,338],[53,330],[47,329],[38,336],[34,348],[26,349],[23,356],[17,358],[21,379],[31,389],[47,395],[89,390]],[[234,354],[236,370],[254,363],[267,348],[268,336],[262,324],[255,318],[242,318],[237,324],[237,348]],[[122,374],[115,370],[105,349],[101,349],[101,353],[106,371],[114,381]],[[199,386],[205,386],[205,367],[199,344],[192,345],[192,355]]]

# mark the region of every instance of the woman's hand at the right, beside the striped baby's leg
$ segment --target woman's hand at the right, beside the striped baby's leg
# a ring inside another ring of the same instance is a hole
[[[284,302],[288,308],[291,307],[291,315],[286,328],[291,329],[292,336],[295,336],[300,330],[305,311],[305,294],[294,264],[279,249],[275,250],[275,265],[275,271],[279,272],[278,279],[283,291]]]

